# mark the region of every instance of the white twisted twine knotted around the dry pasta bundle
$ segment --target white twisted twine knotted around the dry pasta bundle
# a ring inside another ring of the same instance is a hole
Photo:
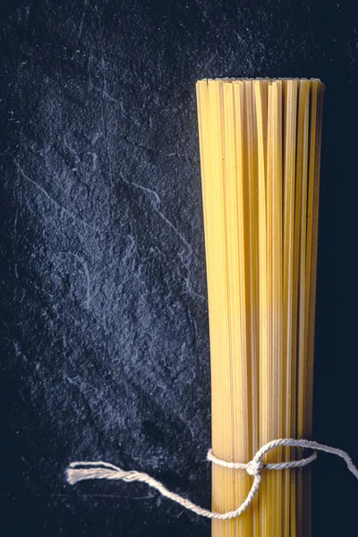
[[[271,440],[264,446],[260,447],[259,451],[249,463],[229,463],[227,461],[223,461],[214,456],[212,450],[209,449],[208,460],[214,465],[224,466],[225,468],[231,468],[233,470],[245,470],[253,477],[253,483],[247,498],[243,500],[243,503],[240,507],[237,507],[237,509],[234,511],[228,511],[227,513],[216,513],[215,511],[209,511],[209,509],[204,509],[203,507],[197,506],[196,504],[192,503],[190,499],[183,498],[182,496],[179,496],[179,494],[175,494],[175,492],[167,490],[163,483],[158,482],[153,477],[150,477],[148,473],[135,472],[134,470],[126,472],[125,470],[122,470],[122,468],[118,468],[118,466],[110,465],[109,463],[104,463],[103,461],[93,463],[71,463],[71,465],[69,465],[67,468],[66,476],[67,482],[69,482],[71,485],[86,479],[109,479],[121,480],[124,482],[146,483],[149,485],[149,487],[158,490],[162,496],[172,499],[185,509],[189,509],[189,511],[196,513],[196,515],[206,516],[207,518],[213,518],[216,520],[229,520],[230,518],[235,518],[236,516],[242,515],[243,511],[250,506],[252,500],[260,489],[261,471],[263,469],[287,470],[292,468],[303,468],[303,466],[310,465],[311,462],[317,458],[317,453],[314,452],[311,456],[303,458],[300,461],[289,461],[277,464],[262,463],[263,456],[265,456],[270,449],[280,446],[307,447],[309,449],[317,449],[318,451],[325,451],[326,453],[340,456],[345,460],[348,470],[358,479],[358,469],[354,466],[351,457],[348,456],[345,451],[342,449],[337,449],[337,447],[325,446],[324,444],[319,444],[318,442],[313,442],[311,440],[298,439]]]

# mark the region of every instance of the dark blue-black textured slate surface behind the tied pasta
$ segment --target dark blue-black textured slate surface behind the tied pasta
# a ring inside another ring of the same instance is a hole
[[[195,81],[320,77],[314,438],[356,443],[356,2],[1,3],[1,534],[209,536],[208,303]],[[313,535],[356,535],[358,483],[313,466]]]

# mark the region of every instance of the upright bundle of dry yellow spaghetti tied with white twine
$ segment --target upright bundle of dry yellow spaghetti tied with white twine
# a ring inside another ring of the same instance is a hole
[[[212,448],[227,461],[311,437],[323,92],[319,80],[197,83]],[[266,462],[297,456],[279,448]],[[309,536],[310,472],[263,473],[251,506],[212,534]],[[213,510],[233,510],[250,487],[214,465]]]

